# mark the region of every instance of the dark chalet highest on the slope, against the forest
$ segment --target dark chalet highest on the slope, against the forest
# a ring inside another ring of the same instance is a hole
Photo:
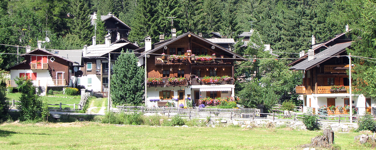
[[[91,25],[94,25],[95,20],[98,19],[97,12],[90,15],[90,19]],[[105,23],[105,30],[109,31],[111,34],[111,43],[120,39],[128,40],[128,34],[131,28],[123,23],[123,21],[121,21],[119,18],[115,17],[115,15],[112,15],[111,12],[109,12],[107,15],[101,15],[100,20]]]

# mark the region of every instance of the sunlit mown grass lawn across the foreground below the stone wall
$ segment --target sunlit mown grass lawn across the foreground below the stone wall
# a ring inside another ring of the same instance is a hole
[[[240,127],[115,126],[94,122],[0,125],[1,149],[303,149],[321,131]],[[367,149],[335,133],[342,149]]]

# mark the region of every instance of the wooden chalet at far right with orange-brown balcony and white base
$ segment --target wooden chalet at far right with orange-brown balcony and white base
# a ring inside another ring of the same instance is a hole
[[[312,36],[313,49],[309,49],[307,54],[300,52],[300,58],[288,64],[291,66],[290,70],[302,71],[303,84],[296,86],[296,93],[303,100],[303,112],[312,110],[317,113],[318,108],[324,105],[344,107],[352,103],[361,115],[365,111],[371,113],[371,107],[375,107],[374,102],[363,95],[352,95],[350,102],[349,58],[346,56],[346,48],[351,48],[353,40],[350,39],[349,31],[346,26],[346,32],[321,43],[315,43],[315,37]],[[347,111],[333,113],[347,114]]]

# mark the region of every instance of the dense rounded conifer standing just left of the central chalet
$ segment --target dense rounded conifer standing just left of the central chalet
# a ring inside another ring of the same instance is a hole
[[[121,51],[124,52],[124,51]],[[122,53],[111,77],[111,98],[115,104],[138,105],[144,99],[144,69],[137,66],[135,54]]]

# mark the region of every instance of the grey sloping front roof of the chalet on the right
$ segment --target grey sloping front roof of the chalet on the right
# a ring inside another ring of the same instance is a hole
[[[335,44],[325,49],[324,51],[314,55],[313,60],[308,61],[307,58],[303,60],[303,62],[300,62],[295,66],[291,67],[290,70],[309,70],[317,65],[320,65],[320,63],[323,63],[326,60],[332,58],[331,56],[336,56],[337,54],[346,51],[346,48],[351,46],[352,42],[354,41]]]

